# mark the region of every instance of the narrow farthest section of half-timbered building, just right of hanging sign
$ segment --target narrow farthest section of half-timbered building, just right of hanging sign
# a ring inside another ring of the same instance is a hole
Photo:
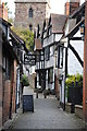
[[[37,37],[35,39],[34,51],[36,55],[36,84],[35,87],[46,88],[45,86],[45,52],[42,49],[41,38],[40,38],[40,27],[38,25]]]

